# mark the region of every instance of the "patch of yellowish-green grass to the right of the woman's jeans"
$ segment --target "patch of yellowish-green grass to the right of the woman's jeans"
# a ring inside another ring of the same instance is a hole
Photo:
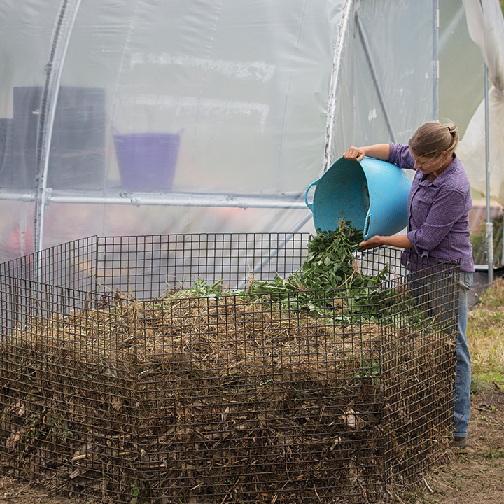
[[[497,278],[468,316],[472,392],[504,388],[504,280]]]

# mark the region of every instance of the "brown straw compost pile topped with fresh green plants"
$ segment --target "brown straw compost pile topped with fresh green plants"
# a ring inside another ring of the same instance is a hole
[[[27,318],[1,345],[3,463],[120,502],[381,497],[380,328],[363,316],[381,276],[359,272],[359,241],[342,223],[288,279],[243,293],[195,281]],[[423,422],[412,415],[409,429]]]

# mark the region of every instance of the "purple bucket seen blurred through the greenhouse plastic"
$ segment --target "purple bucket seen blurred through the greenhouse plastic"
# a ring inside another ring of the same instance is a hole
[[[182,132],[114,134],[123,188],[171,190]]]

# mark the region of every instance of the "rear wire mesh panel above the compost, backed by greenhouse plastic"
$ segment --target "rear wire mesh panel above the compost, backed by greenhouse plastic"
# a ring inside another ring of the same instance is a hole
[[[242,288],[251,276],[288,276],[306,257],[309,233],[218,233],[99,238],[99,282],[140,299],[197,279]]]

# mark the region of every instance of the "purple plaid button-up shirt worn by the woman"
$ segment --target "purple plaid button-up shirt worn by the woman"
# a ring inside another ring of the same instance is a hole
[[[407,145],[391,143],[388,161],[415,169]],[[469,241],[470,207],[469,179],[456,156],[433,181],[416,170],[408,197],[407,237],[413,248],[405,250],[403,260],[460,259],[461,271],[475,271]]]

